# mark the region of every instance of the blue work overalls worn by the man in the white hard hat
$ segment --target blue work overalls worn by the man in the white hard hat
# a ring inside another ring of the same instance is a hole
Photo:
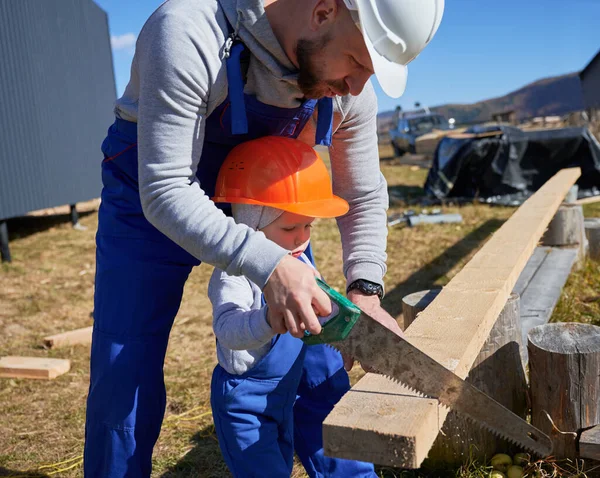
[[[266,135],[296,137],[317,104],[306,101],[284,109],[245,95],[239,63],[243,50],[241,44],[234,45],[227,60],[228,98],[206,119],[197,176],[208,196],[235,145]],[[321,144],[331,138],[332,109],[330,99],[319,101]],[[165,411],[163,363],[169,333],[185,281],[200,261],[144,217],[137,179],[137,125],[117,119],[102,151],[104,187],[96,235],[84,471],[87,477],[148,477]],[[298,347],[299,341],[293,344]],[[283,341],[280,345],[275,351],[284,348]],[[315,346],[296,366],[302,366],[294,407],[296,448],[311,476],[374,476],[372,465],[323,456],[322,421],[349,388],[340,355]],[[256,473],[240,476],[265,476],[260,473],[261,461],[253,462]]]

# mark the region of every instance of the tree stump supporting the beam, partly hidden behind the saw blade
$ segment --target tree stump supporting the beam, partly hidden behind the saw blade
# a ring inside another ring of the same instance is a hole
[[[413,315],[410,307],[417,310],[417,313],[420,312],[418,308],[421,305],[426,307],[427,298],[430,299],[429,302],[433,301],[438,292],[422,291],[405,297],[403,306],[409,308],[409,317]],[[409,305],[413,303],[415,306]],[[519,295],[511,294],[473,364],[467,381],[517,415],[525,417],[527,382],[521,349]],[[514,451],[508,442],[469,422],[460,414],[450,412],[442,433],[438,435],[429,453],[429,463],[461,465],[469,456],[486,460],[502,450]]]

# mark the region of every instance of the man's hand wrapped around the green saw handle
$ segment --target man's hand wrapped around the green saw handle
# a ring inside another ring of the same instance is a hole
[[[331,301],[315,280],[314,269],[292,256],[284,256],[267,281],[263,293],[273,331],[301,338],[304,331],[321,332],[317,319],[331,314]]]

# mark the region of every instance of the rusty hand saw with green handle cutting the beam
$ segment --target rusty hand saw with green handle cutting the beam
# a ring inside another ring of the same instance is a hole
[[[325,282],[317,282],[339,312],[320,334],[306,332],[306,344],[329,344],[362,365],[436,398],[492,433],[541,457],[550,455],[552,441],[543,432],[369,317]]]

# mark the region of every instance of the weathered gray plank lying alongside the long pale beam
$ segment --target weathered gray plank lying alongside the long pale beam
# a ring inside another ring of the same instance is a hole
[[[547,324],[577,261],[576,248],[552,248],[521,295],[523,343],[538,325]]]

